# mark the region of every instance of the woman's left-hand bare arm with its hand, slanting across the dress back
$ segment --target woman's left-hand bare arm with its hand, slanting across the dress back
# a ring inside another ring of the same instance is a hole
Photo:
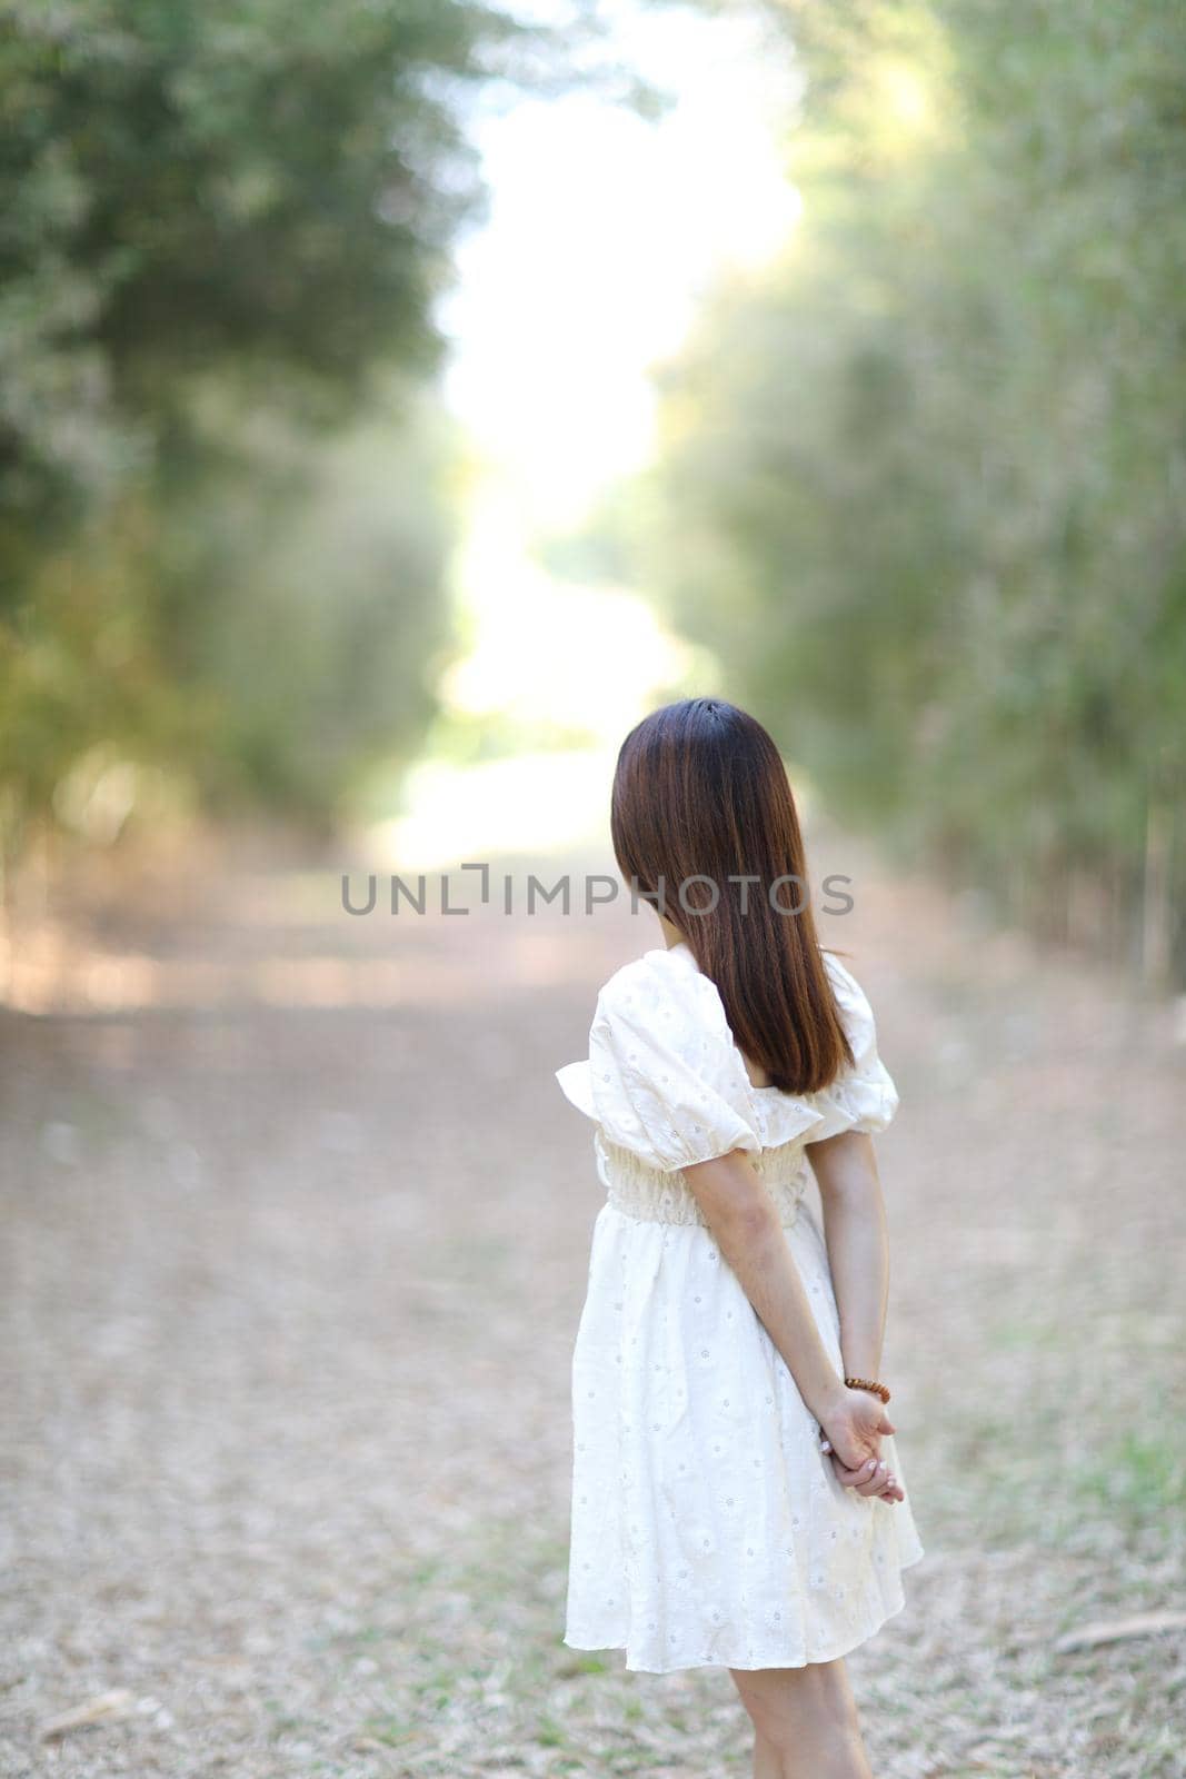
[[[734,1149],[711,1162],[695,1162],[683,1169],[683,1176],[724,1260],[836,1453],[852,1469],[868,1461],[877,1464],[880,1436],[894,1429],[877,1397],[848,1389],[836,1372],[782,1224],[747,1153]]]

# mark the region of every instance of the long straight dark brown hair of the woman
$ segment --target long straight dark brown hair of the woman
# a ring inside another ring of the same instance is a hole
[[[610,836],[628,886],[679,929],[717,984],[738,1048],[772,1087],[816,1092],[852,1064],[795,797],[756,717],[720,697],[686,697],[635,724],[617,756]]]

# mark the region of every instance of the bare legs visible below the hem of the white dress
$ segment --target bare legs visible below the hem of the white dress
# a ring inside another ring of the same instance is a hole
[[[843,1656],[729,1672],[754,1724],[754,1779],[873,1779]]]

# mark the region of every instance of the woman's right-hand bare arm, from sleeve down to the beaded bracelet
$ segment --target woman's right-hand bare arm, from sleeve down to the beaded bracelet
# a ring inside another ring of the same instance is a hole
[[[807,1144],[807,1160],[820,1183],[845,1377],[880,1377],[889,1240],[873,1139],[846,1130]]]

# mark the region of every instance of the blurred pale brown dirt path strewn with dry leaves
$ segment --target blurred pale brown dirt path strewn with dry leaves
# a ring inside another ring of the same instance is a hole
[[[836,836],[814,863],[855,877],[827,936],[903,1098],[885,1370],[928,1555],[850,1658],[878,1779],[1172,1779],[1182,1630],[1058,1640],[1182,1608],[1174,1009]],[[743,1775],[722,1670],[560,1642],[599,1188],[551,1071],[653,920],[350,918],[341,865],[76,888],[21,954],[0,1772]]]

